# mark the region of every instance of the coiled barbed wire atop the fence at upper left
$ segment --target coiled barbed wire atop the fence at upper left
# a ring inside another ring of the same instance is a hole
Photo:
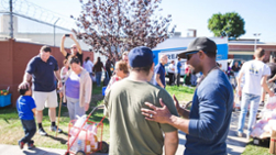
[[[12,12],[15,15],[25,16],[27,19],[33,19],[34,21],[41,21],[43,23],[48,23],[52,25],[54,25],[56,22],[56,26],[60,26],[67,30],[76,27],[75,21],[69,16],[58,14],[32,2],[29,2],[27,0],[13,0],[12,7]],[[10,12],[10,0],[1,0],[0,12]]]

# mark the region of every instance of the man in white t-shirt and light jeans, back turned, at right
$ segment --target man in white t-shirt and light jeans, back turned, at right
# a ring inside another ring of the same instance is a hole
[[[267,76],[271,75],[271,68],[264,64],[262,60],[265,57],[265,51],[263,48],[257,48],[254,53],[255,59],[244,63],[241,68],[240,76],[238,78],[238,92],[242,95],[241,113],[238,125],[238,136],[242,136],[243,126],[245,122],[245,117],[247,113],[249,104],[250,109],[250,120],[247,124],[247,135],[250,139],[252,126],[256,121],[256,113],[261,98],[262,87],[266,90],[271,97],[274,96],[266,84]],[[241,79],[245,76],[243,89],[241,89]]]

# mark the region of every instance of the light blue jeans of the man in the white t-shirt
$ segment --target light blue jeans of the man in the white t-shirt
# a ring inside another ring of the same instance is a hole
[[[247,130],[249,130],[247,136],[251,134],[252,126],[255,124],[255,121],[256,121],[256,114],[257,114],[260,99],[261,99],[261,96],[251,95],[251,93],[242,93],[242,104],[241,104],[242,111],[240,113],[238,131],[243,133],[245,117],[247,113],[249,104],[251,103],[250,120],[249,120],[249,124],[247,124]]]

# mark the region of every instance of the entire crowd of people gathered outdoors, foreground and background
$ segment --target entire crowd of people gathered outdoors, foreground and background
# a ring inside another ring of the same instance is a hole
[[[51,131],[63,132],[55,123],[58,107],[55,78],[69,118],[75,120],[76,115],[82,115],[89,109],[93,78],[97,87],[102,86],[104,70],[108,82],[103,104],[104,115],[110,121],[110,154],[163,154],[164,151],[166,155],[173,155],[179,143],[178,130],[186,133],[185,154],[227,154],[225,141],[234,93],[229,73],[221,70],[216,62],[217,45],[212,40],[197,37],[187,51],[178,54],[177,63],[172,60],[168,65],[168,85],[176,82],[179,86],[180,59],[187,59],[184,84],[197,85],[191,109],[188,110],[179,106],[177,98],[165,89],[166,55],[161,55],[158,64],[154,64],[153,52],[139,46],[124,52],[121,60],[113,62],[109,57],[103,65],[100,57],[97,57],[96,63],[86,57],[82,62],[78,42],[71,34],[68,37],[75,44],[68,53],[64,48],[66,35],[62,37],[60,52],[65,60],[60,71],[48,46],[42,46],[40,54],[27,63],[19,86],[21,97],[16,102],[25,132],[25,136],[19,141],[20,148],[24,144],[29,148],[34,147],[32,137],[36,132],[35,119],[38,134],[47,135],[42,124],[45,107],[48,108]],[[261,88],[271,97],[274,96],[266,82],[271,68],[263,59],[264,49],[257,48],[254,60],[244,63],[242,67],[235,63],[230,69],[230,74],[238,77],[236,92],[242,97],[239,136],[243,134],[244,118],[251,104],[246,134],[250,137],[261,100]],[[201,75],[199,80],[194,77],[196,74]],[[245,80],[242,80],[243,77]],[[275,75],[271,76],[268,82],[275,79]]]

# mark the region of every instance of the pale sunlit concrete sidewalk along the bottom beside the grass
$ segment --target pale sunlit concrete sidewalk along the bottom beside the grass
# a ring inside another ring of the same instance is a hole
[[[235,135],[238,121],[239,121],[239,114],[240,112],[232,113],[230,131],[229,131],[229,135],[227,140],[228,154],[231,154],[231,155],[242,154],[245,150],[246,143],[249,142],[245,137],[238,137]],[[247,122],[247,118],[246,118],[246,122]],[[246,124],[245,124],[245,129],[246,129]],[[245,131],[245,133],[247,131]],[[181,131],[178,132],[178,135],[179,135],[179,145],[178,145],[176,155],[183,155],[185,151],[186,136],[185,136],[185,133]],[[20,150],[18,145],[0,144],[0,155],[64,155],[65,153],[66,153],[66,150],[36,147],[30,151],[26,147],[24,150]],[[107,154],[95,153],[92,155],[107,155]]]

